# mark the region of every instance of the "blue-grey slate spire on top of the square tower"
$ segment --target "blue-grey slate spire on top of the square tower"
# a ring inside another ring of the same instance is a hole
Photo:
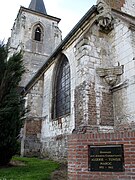
[[[39,13],[47,14],[43,0],[31,0],[28,8]]]

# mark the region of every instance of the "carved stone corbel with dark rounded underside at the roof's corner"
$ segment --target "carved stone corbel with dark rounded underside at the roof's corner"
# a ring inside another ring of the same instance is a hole
[[[96,21],[99,26],[99,30],[104,33],[109,33],[114,28],[114,20],[111,14],[111,8],[104,0],[97,0],[98,15]]]

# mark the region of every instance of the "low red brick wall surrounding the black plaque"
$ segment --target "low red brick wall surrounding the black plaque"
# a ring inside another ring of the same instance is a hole
[[[88,171],[88,145],[124,147],[124,172]],[[68,139],[68,177],[70,180],[135,179],[135,132],[73,134]]]

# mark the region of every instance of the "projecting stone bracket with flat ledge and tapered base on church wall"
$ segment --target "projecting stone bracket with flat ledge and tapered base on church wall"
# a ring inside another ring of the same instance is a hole
[[[117,83],[118,76],[123,74],[124,66],[115,66],[109,68],[97,68],[98,75],[105,79],[109,86],[114,86]]]

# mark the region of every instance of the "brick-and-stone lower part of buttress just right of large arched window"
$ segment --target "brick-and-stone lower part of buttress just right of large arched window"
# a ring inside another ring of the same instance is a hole
[[[75,126],[96,125],[96,92],[94,83],[83,82],[75,89]]]

